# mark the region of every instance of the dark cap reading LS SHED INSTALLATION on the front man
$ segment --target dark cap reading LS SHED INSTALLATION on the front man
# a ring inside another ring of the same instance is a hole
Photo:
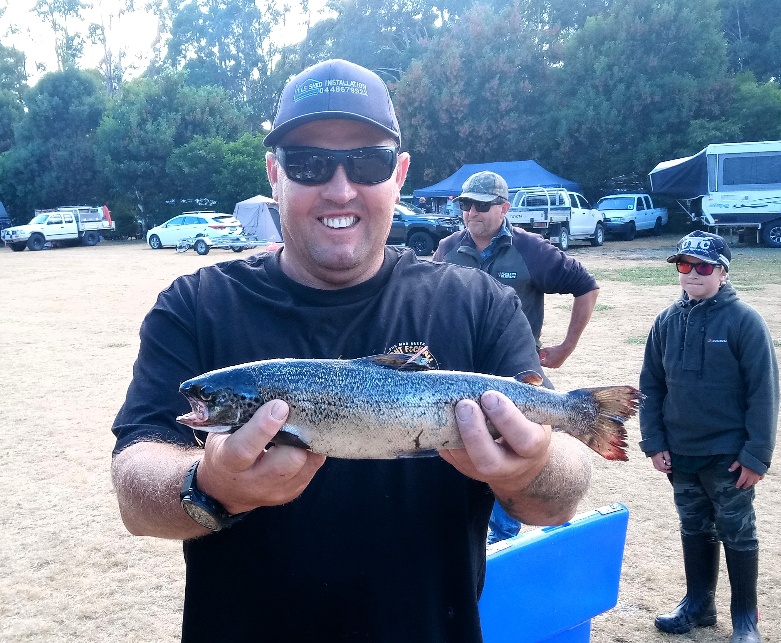
[[[263,145],[273,147],[299,125],[328,119],[360,120],[375,125],[401,145],[401,132],[386,84],[366,67],[341,59],[312,65],[285,85],[274,124]]]

